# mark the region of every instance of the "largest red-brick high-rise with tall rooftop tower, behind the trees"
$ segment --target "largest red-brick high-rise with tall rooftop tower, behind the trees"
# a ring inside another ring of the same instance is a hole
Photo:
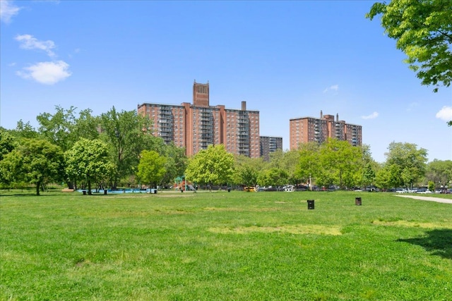
[[[208,145],[225,145],[227,152],[257,158],[259,145],[259,111],[210,106],[209,84],[194,82],[193,104],[140,104],[138,113],[153,121],[153,134],[185,147],[192,156]]]

